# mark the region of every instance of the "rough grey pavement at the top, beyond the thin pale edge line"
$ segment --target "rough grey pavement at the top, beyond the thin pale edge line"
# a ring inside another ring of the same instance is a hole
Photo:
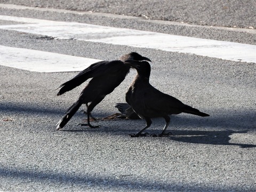
[[[124,14],[197,25],[256,28],[255,0],[0,0],[0,3]]]

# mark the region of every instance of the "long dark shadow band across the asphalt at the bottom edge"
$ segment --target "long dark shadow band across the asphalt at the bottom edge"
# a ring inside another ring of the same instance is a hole
[[[197,186],[196,183],[166,183],[156,180],[146,180],[143,178],[135,178],[133,175],[110,175],[110,176],[97,176],[90,174],[76,174],[76,173],[63,173],[54,171],[38,171],[30,169],[18,169],[6,166],[1,166],[0,168],[0,178],[11,178],[9,181],[10,185],[12,182],[19,182],[19,190],[28,187],[28,185],[33,185],[34,190],[42,190],[42,188],[47,188],[51,190],[65,191],[71,190],[70,187],[81,190],[95,190],[98,189],[102,191],[109,189],[114,191],[241,191],[237,186],[227,186],[226,190],[223,187],[207,187],[207,186]],[[35,183],[36,182],[36,183]],[[53,188],[54,186],[54,188]],[[10,187],[10,186],[9,186]],[[10,189],[10,188],[9,188]],[[46,190],[46,189],[44,189]]]

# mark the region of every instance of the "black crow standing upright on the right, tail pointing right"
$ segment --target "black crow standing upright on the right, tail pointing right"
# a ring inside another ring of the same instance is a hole
[[[198,109],[185,105],[180,100],[165,94],[150,85],[150,65],[147,61],[127,60],[124,62],[137,70],[137,76],[134,78],[129,90],[126,93],[125,100],[132,107],[135,113],[142,119],[145,119],[147,126],[131,137],[139,137],[152,123],[152,117],[163,117],[166,121],[164,129],[158,136],[168,135],[165,133],[169,123],[169,115],[188,113],[202,117],[210,116],[202,113]]]

